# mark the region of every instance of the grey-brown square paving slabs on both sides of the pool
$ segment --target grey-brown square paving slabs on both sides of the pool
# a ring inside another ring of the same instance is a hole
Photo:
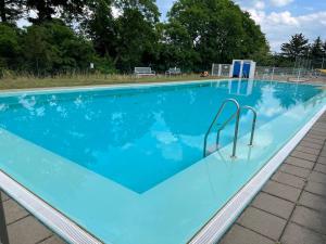
[[[1,202],[10,244],[65,243],[4,193]],[[326,113],[220,242],[275,243],[326,244]]]

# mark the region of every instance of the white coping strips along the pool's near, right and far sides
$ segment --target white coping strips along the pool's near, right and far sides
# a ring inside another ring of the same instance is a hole
[[[156,82],[156,84],[146,84],[146,85],[131,85],[131,86],[101,86],[101,87],[84,87],[84,89],[76,89],[76,87],[67,89],[48,89],[48,90],[37,90],[37,91],[25,91],[30,93],[43,93],[58,91],[71,91],[71,90],[101,90],[101,89],[116,89],[116,88],[129,88],[139,86],[173,86],[176,84],[198,84],[203,81],[225,81],[229,79],[220,80],[197,80],[197,81],[177,81],[172,84]],[[318,85],[319,86],[319,85]],[[24,91],[10,92],[13,94],[22,93]],[[1,92],[0,92],[1,93]],[[4,93],[4,92],[3,92]],[[238,215],[244,209],[248,203],[253,198],[253,196],[263,187],[264,180],[267,181],[277,167],[283,163],[283,160],[289,155],[289,153],[294,149],[294,146],[300,142],[300,140],[310,130],[313,124],[323,115],[326,111],[326,105],[318,111],[314,117],[306,123],[299,132],[285,145],[272,159],[268,160],[266,166],[264,166],[256,176],[254,176],[249,183],[247,183],[216,215],[206,223],[198,233],[189,241],[189,243],[215,243],[229,228]],[[292,144],[292,145],[291,145]],[[266,172],[265,172],[266,171]],[[268,172],[269,171],[269,172]],[[260,175],[263,176],[260,176]],[[269,175],[269,176],[268,176]],[[256,179],[258,178],[258,179]],[[265,179],[266,178],[266,179]],[[252,182],[253,181],[253,182]],[[253,185],[252,185],[253,184]],[[259,185],[259,187],[258,187]],[[61,235],[64,240],[70,243],[102,243],[89,232],[84,230],[77,223],[72,221],[70,218],[65,217],[62,213],[51,207],[41,198],[37,197],[35,194],[29,192],[26,188],[14,181],[7,174],[0,170],[0,188],[3,189],[5,193],[12,196],[16,202],[24,206],[27,210],[33,213],[41,222],[52,229],[55,233]],[[255,192],[254,192],[255,191]],[[244,204],[243,204],[244,203]]]

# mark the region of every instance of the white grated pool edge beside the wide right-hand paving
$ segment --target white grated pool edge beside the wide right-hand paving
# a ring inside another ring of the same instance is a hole
[[[216,243],[325,112],[326,105],[188,243]]]

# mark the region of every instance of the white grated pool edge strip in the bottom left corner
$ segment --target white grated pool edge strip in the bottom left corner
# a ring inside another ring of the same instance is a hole
[[[73,244],[102,243],[49,204],[30,193],[1,170],[0,188],[10,197],[26,208],[33,216],[49,227],[66,242]]]

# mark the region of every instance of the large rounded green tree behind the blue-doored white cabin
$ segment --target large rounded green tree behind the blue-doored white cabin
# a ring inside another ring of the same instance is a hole
[[[230,62],[268,51],[260,27],[229,0],[178,0],[168,13],[168,23],[186,30],[183,36],[171,35],[167,39],[171,43],[178,39],[188,43],[180,52],[195,51],[193,65],[200,69],[215,62]]]

